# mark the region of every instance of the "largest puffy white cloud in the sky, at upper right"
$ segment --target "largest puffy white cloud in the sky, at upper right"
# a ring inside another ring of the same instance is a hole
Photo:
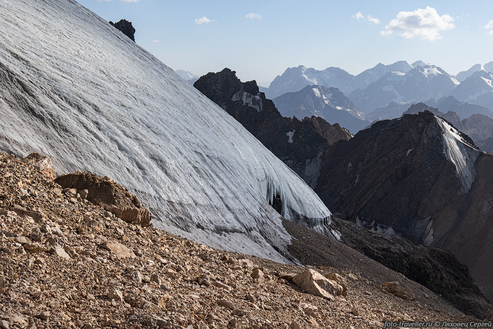
[[[380,34],[390,35],[396,32],[406,39],[418,36],[433,41],[442,38],[440,31],[454,27],[456,26],[453,25],[453,18],[450,15],[439,15],[437,10],[427,6],[425,9],[399,12],[395,19],[385,26],[385,30],[380,31]]]

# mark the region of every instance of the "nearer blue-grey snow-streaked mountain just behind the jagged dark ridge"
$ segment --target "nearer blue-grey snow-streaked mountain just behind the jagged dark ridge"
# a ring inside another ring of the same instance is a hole
[[[338,123],[355,134],[370,121],[339,89],[326,86],[306,86],[295,93],[273,99],[279,113],[285,117],[321,117],[331,124]]]

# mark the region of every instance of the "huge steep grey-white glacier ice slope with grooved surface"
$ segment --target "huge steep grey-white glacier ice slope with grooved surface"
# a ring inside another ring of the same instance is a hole
[[[77,2],[0,2],[0,39],[1,150],[46,154],[59,173],[108,175],[158,228],[223,249],[286,261],[275,197],[292,221],[330,223],[239,122]]]

